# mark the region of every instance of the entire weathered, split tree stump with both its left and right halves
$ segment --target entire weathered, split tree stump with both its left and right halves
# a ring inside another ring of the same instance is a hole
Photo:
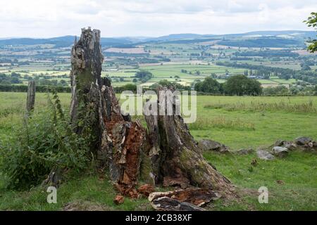
[[[190,203],[177,200],[178,204],[175,199],[163,196],[161,200],[164,203],[173,202],[179,210],[200,210],[190,204],[199,202],[203,195],[211,195],[210,190],[230,192],[230,181],[204,160],[182,117],[175,114],[174,101],[172,115],[166,112],[163,115],[146,115],[148,134],[138,121],[132,122],[130,116],[121,114],[110,80],[101,78],[103,58],[100,31],[90,27],[82,29],[71,56],[70,117],[75,132],[89,139],[99,165],[108,168],[118,191],[137,197],[139,193],[135,186],[141,164],[150,161],[149,176],[154,178],[154,184],[201,188],[194,192],[184,190],[183,195],[189,196]],[[174,91],[173,88],[160,90]],[[194,198],[198,200],[194,201]],[[165,208],[173,207],[166,205]]]

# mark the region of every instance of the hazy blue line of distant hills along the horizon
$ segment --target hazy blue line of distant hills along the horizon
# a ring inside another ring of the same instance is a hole
[[[218,44],[240,47],[276,47],[304,46],[309,38],[315,38],[313,31],[257,31],[242,34],[169,34],[162,37],[102,37],[101,46],[130,48],[144,43],[194,44],[203,41],[219,40]],[[71,46],[75,36],[53,37],[47,39],[12,38],[0,39],[0,46],[4,45],[36,45],[54,44],[55,47]]]

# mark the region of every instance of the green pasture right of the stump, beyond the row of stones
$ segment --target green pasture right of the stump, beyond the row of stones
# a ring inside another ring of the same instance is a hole
[[[285,112],[284,109],[266,110],[265,108],[254,110],[256,104],[274,105],[281,101],[289,105],[311,101],[313,108],[317,109],[317,97],[198,96],[197,118],[204,123],[197,129],[191,129],[191,133],[198,140],[213,139],[225,143],[232,149],[269,146],[277,139],[292,140],[297,136],[311,136],[317,139],[317,113],[290,113],[290,111]],[[223,104],[229,107],[218,107]],[[214,107],[206,108],[206,105],[214,105]],[[234,105],[244,105],[244,108],[230,108]],[[233,122],[240,120],[240,126],[224,128],[211,125],[212,121],[219,117]],[[244,125],[241,127],[241,124]],[[189,124],[189,127],[191,126],[196,125]],[[245,127],[248,126],[254,129],[246,129]]]

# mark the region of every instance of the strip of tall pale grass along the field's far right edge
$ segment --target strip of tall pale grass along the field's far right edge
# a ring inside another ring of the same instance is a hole
[[[251,101],[250,103],[216,103],[216,104],[207,104],[204,105],[204,108],[207,109],[219,109],[223,108],[228,111],[235,110],[248,110],[248,111],[256,111],[263,112],[265,110],[268,111],[284,111],[287,113],[317,113],[317,109],[315,105],[313,105],[313,101],[308,101],[306,103],[287,103],[285,101],[279,101],[275,103],[263,103],[259,101]]]

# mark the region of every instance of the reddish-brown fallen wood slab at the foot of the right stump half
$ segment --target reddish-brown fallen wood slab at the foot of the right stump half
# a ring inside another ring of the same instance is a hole
[[[202,206],[210,203],[213,200],[217,200],[221,197],[220,193],[202,189],[202,188],[187,188],[176,191],[167,192],[153,192],[149,194],[149,201],[154,202],[157,198],[168,197],[178,200],[181,203],[187,202],[193,205]]]

